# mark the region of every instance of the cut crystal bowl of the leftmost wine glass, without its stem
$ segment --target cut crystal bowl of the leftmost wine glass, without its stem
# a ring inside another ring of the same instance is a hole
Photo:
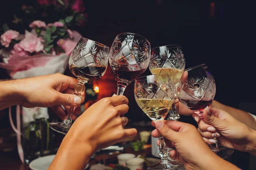
[[[108,53],[108,46],[81,38],[70,55],[70,71],[84,83],[100,79],[107,70]]]

